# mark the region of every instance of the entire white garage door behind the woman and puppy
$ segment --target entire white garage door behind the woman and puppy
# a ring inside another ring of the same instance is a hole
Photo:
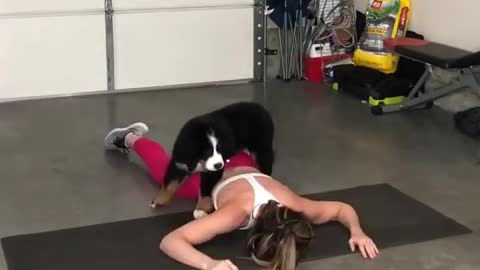
[[[0,99],[253,77],[253,0],[112,2],[0,0]]]

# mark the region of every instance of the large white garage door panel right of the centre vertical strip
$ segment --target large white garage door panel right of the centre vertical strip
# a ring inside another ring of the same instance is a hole
[[[253,10],[117,13],[118,89],[249,79]]]

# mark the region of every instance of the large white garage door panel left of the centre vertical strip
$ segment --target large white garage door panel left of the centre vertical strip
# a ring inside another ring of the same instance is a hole
[[[0,20],[0,98],[106,89],[103,15]]]

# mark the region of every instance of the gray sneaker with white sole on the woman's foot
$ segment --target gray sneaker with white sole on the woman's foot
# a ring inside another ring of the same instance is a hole
[[[143,136],[148,132],[148,126],[142,122],[136,122],[127,127],[112,129],[105,137],[105,149],[128,152],[129,147],[125,144],[125,137],[132,132]]]

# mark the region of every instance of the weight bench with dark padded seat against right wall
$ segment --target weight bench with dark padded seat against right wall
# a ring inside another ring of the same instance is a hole
[[[384,40],[384,46],[391,52],[413,61],[425,64],[425,73],[420,77],[413,89],[398,104],[379,104],[371,107],[371,112],[381,115],[414,107],[431,108],[433,101],[453,92],[469,87],[480,87],[480,81],[475,76],[473,68],[480,66],[480,51],[472,53],[444,44],[412,38],[389,38]],[[426,90],[422,86],[432,76],[433,66],[443,69],[460,70],[459,76],[449,85],[437,89]],[[424,89],[420,91],[420,89]]]

